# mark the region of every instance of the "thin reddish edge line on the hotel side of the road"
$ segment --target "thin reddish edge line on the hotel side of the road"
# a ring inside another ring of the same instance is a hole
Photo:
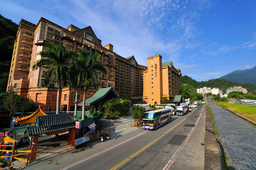
[[[145,131],[145,132],[148,132],[148,131]],[[81,162],[84,162],[84,161],[86,161],[86,160],[88,160],[88,159],[91,159],[91,158],[97,156],[97,155],[100,155],[101,153],[107,152],[108,150],[111,150],[111,149],[115,148],[116,146],[122,145],[123,143],[126,143],[127,141],[131,141],[131,139],[134,139],[134,138],[137,138],[138,136],[141,136],[141,134],[144,134],[145,132],[141,132],[140,134],[137,134],[136,136],[133,136],[132,138],[129,138],[129,139],[125,140],[125,141],[122,141],[121,143],[118,143],[118,144],[116,144],[116,145],[113,145],[113,146],[111,146],[111,147],[109,147],[109,148],[107,148],[107,149],[105,149],[105,150],[102,150],[102,151],[100,151],[100,152],[98,152],[98,153],[95,153],[95,154],[93,154],[93,155],[90,155],[89,157],[86,157],[86,158],[84,158],[84,159],[82,159],[82,160],[79,160],[79,161],[77,161],[77,162],[75,162],[75,163],[73,163],[73,164],[70,164],[70,165],[68,165],[68,166],[66,166],[66,167],[63,167],[63,168],[61,168],[61,170],[65,170],[65,169],[68,169],[68,168],[70,168],[70,167],[72,167],[72,166],[76,166],[77,164],[80,164]]]

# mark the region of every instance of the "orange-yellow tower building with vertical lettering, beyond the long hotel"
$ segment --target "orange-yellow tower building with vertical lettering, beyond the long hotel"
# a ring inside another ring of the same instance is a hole
[[[148,57],[148,69],[143,72],[143,99],[151,105],[161,103],[164,98],[172,102],[180,90],[180,70],[172,62],[162,64],[161,55]]]

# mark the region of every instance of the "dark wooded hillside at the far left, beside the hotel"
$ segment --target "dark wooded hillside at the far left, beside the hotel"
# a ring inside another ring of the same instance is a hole
[[[0,15],[0,93],[6,91],[18,25]]]

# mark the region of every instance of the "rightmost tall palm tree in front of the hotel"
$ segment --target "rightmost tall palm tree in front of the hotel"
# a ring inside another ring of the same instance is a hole
[[[79,84],[79,87],[83,87],[82,120],[84,120],[87,88],[90,85],[93,85],[95,89],[99,88],[99,73],[100,71],[106,73],[105,67],[98,62],[99,57],[100,54],[93,51],[92,48],[83,48],[76,60],[77,84]]]

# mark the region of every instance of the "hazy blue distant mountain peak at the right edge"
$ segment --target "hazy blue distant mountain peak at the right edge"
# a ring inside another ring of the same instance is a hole
[[[220,79],[256,85],[256,66],[250,69],[238,69],[225,76],[221,76]]]

